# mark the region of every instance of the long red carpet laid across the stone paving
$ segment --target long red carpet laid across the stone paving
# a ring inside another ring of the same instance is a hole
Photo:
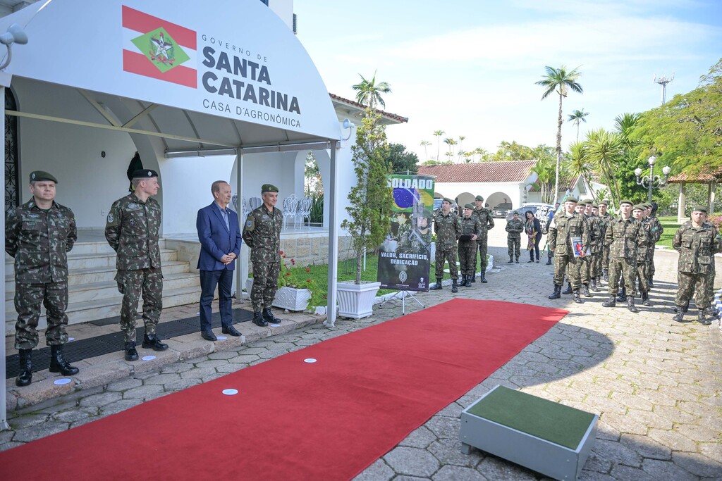
[[[566,314],[454,299],[5,451],[0,473],[347,480]]]

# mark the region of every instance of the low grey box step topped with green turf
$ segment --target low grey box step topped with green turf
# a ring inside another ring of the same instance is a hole
[[[497,386],[461,413],[471,446],[557,480],[575,480],[596,439],[598,415]]]

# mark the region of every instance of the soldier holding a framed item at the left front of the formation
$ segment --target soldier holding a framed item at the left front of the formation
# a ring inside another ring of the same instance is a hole
[[[549,247],[554,252],[554,293],[549,299],[561,297],[566,273],[574,293],[574,301],[581,304],[582,300],[579,296],[581,262],[574,257],[572,237],[580,237],[582,245],[579,257],[584,257],[589,245],[589,227],[586,218],[575,212],[576,206],[577,200],[568,197],[564,202],[564,211],[554,214],[554,219],[549,222]]]

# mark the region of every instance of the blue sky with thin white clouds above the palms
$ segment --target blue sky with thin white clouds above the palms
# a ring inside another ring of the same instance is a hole
[[[493,152],[501,141],[554,146],[559,97],[541,101],[534,84],[544,66],[582,72],[584,93],[570,93],[563,114],[590,112],[583,137],[658,106],[655,74],[674,72],[669,100],[722,57],[721,0],[296,0],[294,10],[298,39],[329,92],[353,99],[359,74],[378,70],[391,84],[386,110],[409,118],[388,138],[421,160],[424,140],[436,156],[436,130],[466,136],[467,151]],[[575,138],[565,121],[562,148]]]

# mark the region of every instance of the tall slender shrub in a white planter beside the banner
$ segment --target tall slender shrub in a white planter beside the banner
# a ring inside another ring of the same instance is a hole
[[[363,256],[381,245],[391,228],[393,198],[387,186],[391,164],[388,162],[386,128],[380,123],[378,111],[364,110],[362,123],[356,131],[352,146],[352,162],[356,185],[349,192],[349,219],[341,223],[351,236],[351,248],[356,257],[356,280],[339,282],[339,316],[361,319],[373,314],[373,300],[381,286],[379,282],[361,281]]]

